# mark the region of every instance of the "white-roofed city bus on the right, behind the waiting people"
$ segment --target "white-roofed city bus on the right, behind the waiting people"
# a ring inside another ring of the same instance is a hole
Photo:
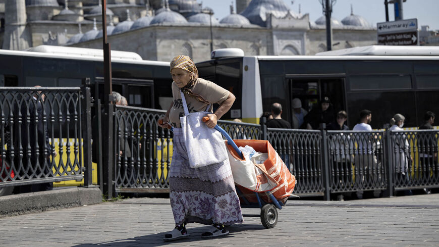
[[[197,63],[199,76],[229,89],[236,101],[225,119],[259,123],[272,103],[283,106],[292,122],[292,101],[311,111],[330,98],[334,112],[348,113],[348,126],[359,112],[372,111],[372,128],[392,116],[406,117],[405,127],[423,123],[426,111],[439,113],[439,46],[364,46],[315,56],[243,56],[239,49],[219,49]]]

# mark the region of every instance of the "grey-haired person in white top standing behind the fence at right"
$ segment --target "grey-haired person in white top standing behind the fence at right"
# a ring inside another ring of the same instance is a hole
[[[405,117],[401,114],[395,114],[393,118],[390,120],[390,124],[392,125],[389,130],[398,131],[403,130]],[[394,134],[393,135],[393,155],[392,159],[394,162],[394,167],[396,171],[396,183],[397,184],[405,184],[408,180],[408,164],[409,160],[411,160],[410,151],[409,151],[409,142],[406,138],[405,134]],[[410,193],[410,192],[408,192]]]

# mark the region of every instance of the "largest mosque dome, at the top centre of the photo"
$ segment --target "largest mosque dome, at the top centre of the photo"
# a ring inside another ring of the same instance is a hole
[[[283,0],[252,0],[247,8],[240,14],[246,17],[250,23],[265,26],[267,14],[275,17],[284,17],[289,9]]]

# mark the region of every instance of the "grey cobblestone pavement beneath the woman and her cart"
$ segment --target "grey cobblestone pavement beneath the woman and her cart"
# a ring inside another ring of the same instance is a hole
[[[245,217],[226,237],[202,239],[207,226],[189,224],[188,239],[163,242],[174,227],[169,199],[126,199],[0,218],[0,246],[439,246],[438,202],[439,194],[291,201],[275,228]]]

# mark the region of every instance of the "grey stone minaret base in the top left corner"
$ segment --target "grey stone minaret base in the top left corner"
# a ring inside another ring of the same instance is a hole
[[[32,46],[29,29],[26,28],[25,0],[5,2],[5,36],[3,49],[25,50]]]

